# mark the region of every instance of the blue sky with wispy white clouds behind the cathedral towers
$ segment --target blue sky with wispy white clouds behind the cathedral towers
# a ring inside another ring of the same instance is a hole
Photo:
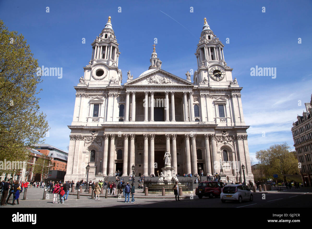
[[[262,7],[266,7],[265,13]],[[251,126],[247,130],[249,151],[255,157],[257,150],[285,141],[294,149],[292,122],[305,110],[304,103],[310,102],[312,93],[311,9],[309,0],[1,1],[0,19],[9,30],[24,35],[39,66],[63,68],[62,79],[43,77],[39,97],[51,127],[46,143],[66,150],[67,125],[71,125],[75,103],[73,86],[83,75],[82,67],[91,59],[90,44],[108,16],[119,43],[119,69],[124,75],[130,69],[136,78],[148,69],[156,37],[162,69],[184,79],[187,70],[197,69],[194,53],[206,17],[225,45],[224,56],[234,69],[233,78],[243,87],[245,122]],[[276,79],[251,76],[250,68],[256,65],[276,68]]]

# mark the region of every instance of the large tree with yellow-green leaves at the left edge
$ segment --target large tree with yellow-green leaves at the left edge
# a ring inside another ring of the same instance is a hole
[[[0,161],[25,161],[27,147],[44,142],[49,129],[38,105],[38,61],[24,36],[9,31],[1,20],[0,53]]]

